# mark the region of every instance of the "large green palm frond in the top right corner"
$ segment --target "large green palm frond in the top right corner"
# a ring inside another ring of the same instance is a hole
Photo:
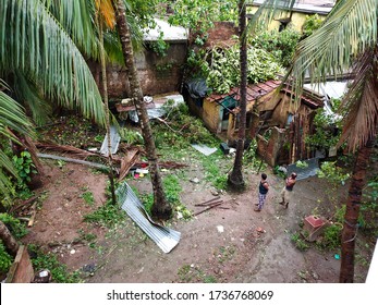
[[[297,47],[285,77],[293,77],[295,93],[301,93],[306,73],[312,83],[342,74],[377,42],[377,0],[344,0],[332,9],[322,26]]]

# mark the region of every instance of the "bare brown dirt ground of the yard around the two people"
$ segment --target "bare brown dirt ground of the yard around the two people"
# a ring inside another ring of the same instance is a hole
[[[325,184],[318,178],[298,181],[295,199],[284,209],[278,205],[283,180],[267,171],[271,188],[264,210],[255,212],[259,175],[246,173],[246,192],[222,193],[222,209],[164,223],[181,232],[180,243],[164,254],[126,215],[124,223],[110,231],[83,221],[84,215],[105,203],[106,175],[81,164],[59,168],[53,161],[44,163],[48,179],[39,191],[45,191],[46,198],[23,242],[57,253],[70,271],[82,271],[85,282],[338,282],[340,260],[334,258],[336,252],[320,253],[315,247],[301,252],[291,241],[291,234],[301,230],[298,224],[314,209],[329,216]],[[181,200],[198,211],[202,208],[195,204],[211,199],[212,187],[194,166],[187,172],[199,183],[183,181]],[[151,191],[148,178],[127,182],[139,193]],[[93,192],[93,205],[81,197],[85,191]],[[343,192],[339,196],[343,197]],[[85,241],[89,233],[96,235],[95,244]],[[365,243],[362,236],[357,239],[357,246]],[[363,248],[358,246],[357,257],[364,259],[356,261],[355,282],[365,281],[366,261],[371,257],[370,251]]]

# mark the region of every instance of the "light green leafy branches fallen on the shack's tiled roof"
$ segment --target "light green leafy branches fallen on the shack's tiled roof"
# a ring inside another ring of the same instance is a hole
[[[276,80],[282,72],[282,66],[267,51],[258,48],[247,50],[247,82],[251,84]],[[214,48],[211,61],[208,63],[206,83],[209,88],[219,94],[229,93],[240,83],[240,49],[233,46],[229,49]]]

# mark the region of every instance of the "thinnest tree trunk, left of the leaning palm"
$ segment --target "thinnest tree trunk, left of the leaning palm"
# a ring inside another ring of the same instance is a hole
[[[108,136],[108,164],[109,164],[109,180],[110,180],[110,193],[111,202],[113,205],[117,204],[115,190],[114,190],[114,173],[113,173],[113,162],[111,156],[111,138],[110,138],[110,115],[109,115],[109,99],[108,99],[108,81],[107,81],[107,66],[105,62],[105,50],[103,50],[103,28],[102,21],[99,20],[99,39],[100,39],[100,60],[101,60],[101,80],[102,80],[102,99],[103,99],[103,110],[106,113],[106,127]]]

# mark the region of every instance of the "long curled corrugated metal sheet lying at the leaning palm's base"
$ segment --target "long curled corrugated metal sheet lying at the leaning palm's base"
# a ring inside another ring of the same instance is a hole
[[[115,194],[122,209],[164,253],[170,253],[179,244],[181,233],[155,223],[126,182],[117,188]]]

